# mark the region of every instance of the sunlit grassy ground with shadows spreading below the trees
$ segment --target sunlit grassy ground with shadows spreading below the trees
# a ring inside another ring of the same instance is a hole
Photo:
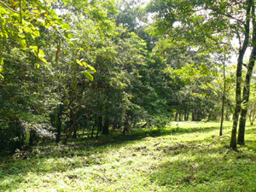
[[[256,191],[256,126],[230,150],[219,123],[44,143],[0,159],[0,191]],[[230,122],[224,135],[230,136]]]

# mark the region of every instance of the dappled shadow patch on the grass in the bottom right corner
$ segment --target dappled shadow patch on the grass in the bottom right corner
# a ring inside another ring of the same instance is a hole
[[[256,154],[252,151],[194,146],[172,148],[166,156],[148,177],[169,191],[256,191]]]

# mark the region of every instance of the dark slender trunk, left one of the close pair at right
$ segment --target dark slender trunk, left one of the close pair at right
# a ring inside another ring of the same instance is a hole
[[[245,24],[245,39],[239,50],[239,56],[236,66],[236,108],[233,115],[233,126],[231,131],[230,148],[236,149],[236,129],[238,125],[239,113],[241,111],[241,72],[242,61],[248,47],[250,38],[250,19],[251,19],[251,6],[253,0],[247,0],[247,19]]]

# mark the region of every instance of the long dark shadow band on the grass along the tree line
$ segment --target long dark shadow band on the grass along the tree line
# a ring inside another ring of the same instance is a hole
[[[166,135],[182,135],[192,132],[214,131],[216,127],[204,128],[172,128],[160,130],[140,130],[128,135],[114,133],[99,137],[71,139],[68,145],[44,143],[33,148],[32,152],[20,152],[15,157],[2,158],[0,162],[1,186],[9,189],[19,188],[19,183],[26,182],[26,175],[67,172],[73,169],[101,165],[101,153],[110,149],[120,148],[129,143],[136,143],[145,137],[161,137]]]

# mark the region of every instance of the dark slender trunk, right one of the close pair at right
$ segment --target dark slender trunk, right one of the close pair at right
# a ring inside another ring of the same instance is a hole
[[[253,49],[250,55],[250,61],[247,66],[247,75],[246,75],[246,80],[243,88],[243,96],[242,96],[242,105],[243,107],[241,108],[241,116],[240,116],[240,124],[239,124],[239,129],[238,129],[238,137],[237,137],[237,143],[244,145],[244,135],[245,135],[245,127],[246,127],[246,122],[247,122],[247,105],[249,102],[249,96],[250,96],[250,83],[251,83],[251,78],[253,74],[253,67],[255,64],[255,56],[256,56],[256,23],[255,23],[255,18],[254,18],[254,2],[252,5],[252,17],[253,17]]]

